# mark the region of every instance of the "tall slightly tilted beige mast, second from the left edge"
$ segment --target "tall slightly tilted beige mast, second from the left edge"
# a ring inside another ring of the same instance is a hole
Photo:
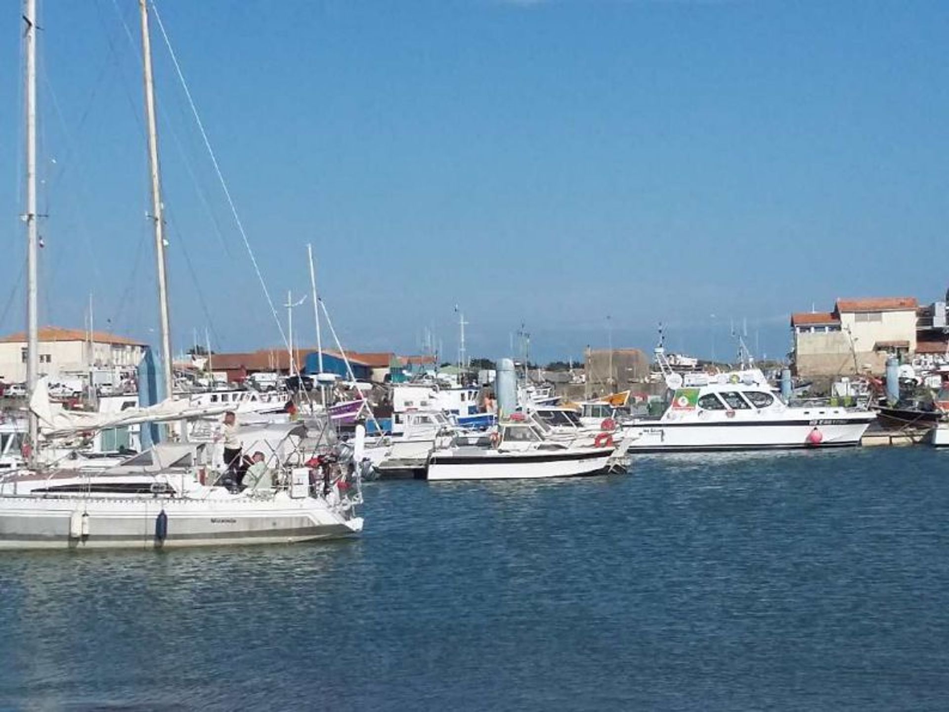
[[[165,270],[165,221],[161,204],[161,175],[158,171],[158,123],[155,120],[155,85],[152,81],[152,44],[148,33],[148,6],[139,0],[141,11],[141,54],[145,69],[145,119],[148,122],[148,162],[152,178],[152,220],[155,223],[155,257],[158,265],[158,319],[161,331],[161,374],[165,397],[172,397],[172,333],[168,319],[168,275]]]

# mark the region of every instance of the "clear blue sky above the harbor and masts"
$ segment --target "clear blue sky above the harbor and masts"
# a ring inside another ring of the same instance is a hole
[[[949,284],[949,4],[160,0],[274,301],[305,245],[351,348],[789,346]],[[154,337],[131,0],[40,0],[42,321]],[[153,27],[177,351],[279,343]],[[0,15],[0,330],[23,327],[20,11]],[[6,38],[6,39],[2,39]],[[203,196],[203,197],[202,197]],[[215,227],[216,226],[216,227]],[[285,310],[280,310],[285,318]],[[307,302],[294,319],[313,339]]]

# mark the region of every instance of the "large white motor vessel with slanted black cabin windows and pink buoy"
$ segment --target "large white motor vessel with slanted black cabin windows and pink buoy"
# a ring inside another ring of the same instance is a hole
[[[757,369],[733,374],[668,374],[661,417],[633,418],[629,452],[743,450],[860,445],[876,417],[864,409],[791,407]]]

